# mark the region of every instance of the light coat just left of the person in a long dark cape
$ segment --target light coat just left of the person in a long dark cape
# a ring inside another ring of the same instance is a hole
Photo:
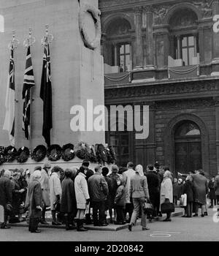
[[[61,181],[57,173],[52,173],[50,176],[50,208],[54,210],[53,204],[56,201],[56,196],[61,197]]]

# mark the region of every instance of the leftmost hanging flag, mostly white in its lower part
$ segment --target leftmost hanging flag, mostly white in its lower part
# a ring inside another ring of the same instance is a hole
[[[13,46],[11,48],[10,54],[5,108],[6,114],[4,118],[3,129],[8,131],[9,141],[12,146],[15,146],[15,62]]]

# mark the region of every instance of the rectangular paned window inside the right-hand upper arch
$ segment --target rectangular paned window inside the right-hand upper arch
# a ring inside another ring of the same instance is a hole
[[[199,53],[199,39],[193,35],[182,35],[175,37],[176,59],[183,59],[183,66],[195,64],[194,58]]]

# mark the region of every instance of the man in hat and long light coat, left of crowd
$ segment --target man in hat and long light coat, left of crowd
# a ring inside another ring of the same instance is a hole
[[[39,182],[41,184],[41,189],[42,189],[42,202],[43,202],[42,219],[40,222],[44,225],[48,225],[48,223],[45,220],[45,212],[47,207],[50,206],[50,176],[48,173],[50,168],[51,168],[50,163],[46,162],[44,167],[41,170],[41,178],[39,179]]]

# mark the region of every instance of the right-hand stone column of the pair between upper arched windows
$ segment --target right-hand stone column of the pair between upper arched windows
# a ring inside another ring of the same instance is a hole
[[[144,8],[146,13],[146,68],[154,68],[153,7]]]

